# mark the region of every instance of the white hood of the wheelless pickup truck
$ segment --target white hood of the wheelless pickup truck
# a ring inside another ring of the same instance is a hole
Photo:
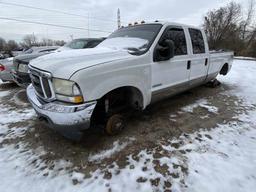
[[[54,77],[69,79],[72,74],[99,64],[134,57],[127,50],[106,47],[69,50],[38,57],[30,66],[50,72]]]

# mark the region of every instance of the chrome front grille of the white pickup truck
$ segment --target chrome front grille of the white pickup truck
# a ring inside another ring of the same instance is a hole
[[[39,97],[50,101],[54,99],[54,91],[52,88],[51,74],[40,71],[29,66],[30,78],[33,87]]]

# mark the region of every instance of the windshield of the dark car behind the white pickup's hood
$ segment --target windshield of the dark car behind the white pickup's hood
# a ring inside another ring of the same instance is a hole
[[[72,49],[87,49],[87,48],[94,48],[99,43],[101,43],[106,38],[80,38],[74,39],[69,43],[65,44],[64,46],[57,49],[57,52],[65,51],[65,50],[72,50]]]

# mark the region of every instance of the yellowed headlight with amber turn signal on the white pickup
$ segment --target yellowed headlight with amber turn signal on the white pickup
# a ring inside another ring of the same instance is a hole
[[[52,82],[58,100],[71,103],[82,103],[84,101],[75,82],[58,78],[53,78]]]

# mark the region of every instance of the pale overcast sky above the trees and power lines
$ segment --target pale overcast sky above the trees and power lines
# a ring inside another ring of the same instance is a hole
[[[99,29],[112,32],[117,28],[117,9],[121,11],[123,25],[141,20],[165,19],[190,25],[201,25],[203,15],[210,9],[225,5],[230,0],[0,0],[27,6],[84,15],[77,17],[4,5],[0,3],[0,17],[8,17],[79,28]],[[245,7],[248,0],[236,0]],[[88,20],[89,15],[89,20]],[[97,20],[95,19],[97,18]],[[88,22],[89,21],[89,22]],[[66,29],[37,24],[27,24],[0,19],[0,37],[22,40],[24,35],[34,33],[40,38],[70,40],[79,37],[107,36],[105,32]]]

